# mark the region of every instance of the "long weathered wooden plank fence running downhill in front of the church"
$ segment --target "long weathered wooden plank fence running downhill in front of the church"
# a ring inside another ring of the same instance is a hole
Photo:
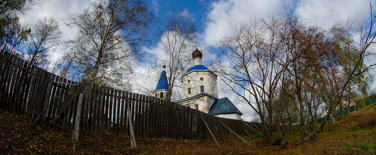
[[[72,82],[31,66],[8,52],[0,52],[0,108],[26,114],[43,127],[72,128],[77,122],[77,93],[83,93],[80,131],[128,136],[127,106],[137,137],[212,139],[256,134],[261,124],[220,118],[190,107],[147,95],[88,82]],[[246,125],[247,124],[247,125]],[[250,126],[250,127],[248,127]]]

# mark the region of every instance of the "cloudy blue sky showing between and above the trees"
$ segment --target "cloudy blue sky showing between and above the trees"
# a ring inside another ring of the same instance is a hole
[[[372,4],[376,4],[371,0]],[[193,14],[195,24],[199,28],[199,40],[202,46],[217,45],[217,41],[230,33],[231,22],[248,21],[253,14],[275,14],[284,12],[299,13],[303,18],[309,19],[309,24],[321,28],[328,28],[339,16],[358,16],[364,18],[369,13],[369,0],[146,0],[146,3],[154,8],[157,18],[171,11],[182,8]],[[21,20],[33,25],[39,18],[53,16],[56,19],[64,19],[68,13],[80,13],[89,4],[89,0],[50,0],[43,7],[34,6]],[[70,29],[60,20],[62,40],[73,38],[76,30]],[[57,59],[64,54],[66,49],[60,47],[52,54]],[[134,66],[135,78],[141,83],[150,81],[145,87],[155,87],[158,79],[146,79],[146,67],[149,65],[151,51],[158,50],[155,45],[143,47],[146,57],[138,65]],[[211,48],[204,52],[203,65],[215,58],[218,49]],[[372,72],[376,75],[375,72]],[[155,85],[153,85],[155,83]],[[219,87],[219,86],[218,86]],[[376,88],[376,82],[371,84],[371,89]],[[151,88],[152,89],[152,88]],[[219,93],[219,97],[228,97],[244,113],[242,118],[252,121],[253,110],[250,106],[236,104],[231,92]]]

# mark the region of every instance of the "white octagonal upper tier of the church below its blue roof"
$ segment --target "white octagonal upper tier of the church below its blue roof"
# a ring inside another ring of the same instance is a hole
[[[200,80],[200,79],[203,80]],[[200,86],[204,86],[204,92],[218,98],[217,75],[209,70],[193,70],[182,76],[183,80],[183,98],[192,97],[200,94]],[[191,94],[188,94],[188,88],[191,88]]]

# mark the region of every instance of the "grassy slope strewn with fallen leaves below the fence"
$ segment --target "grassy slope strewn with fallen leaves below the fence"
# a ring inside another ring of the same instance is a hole
[[[355,123],[356,122],[356,123]],[[376,106],[346,116],[327,127],[314,141],[295,146],[299,133],[289,133],[285,149],[264,145],[256,137],[218,140],[161,140],[137,139],[138,150],[130,147],[129,137],[99,133],[82,133],[80,141],[71,142],[72,132],[56,128],[28,129],[30,121],[23,116],[0,111],[0,154],[376,154]]]

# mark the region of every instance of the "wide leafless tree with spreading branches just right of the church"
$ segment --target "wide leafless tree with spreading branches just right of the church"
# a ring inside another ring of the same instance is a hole
[[[277,86],[289,62],[282,46],[281,26],[282,18],[273,15],[233,25],[232,33],[220,40],[226,61],[215,63],[215,72],[238,100],[259,115],[267,141],[276,123],[273,102]]]

